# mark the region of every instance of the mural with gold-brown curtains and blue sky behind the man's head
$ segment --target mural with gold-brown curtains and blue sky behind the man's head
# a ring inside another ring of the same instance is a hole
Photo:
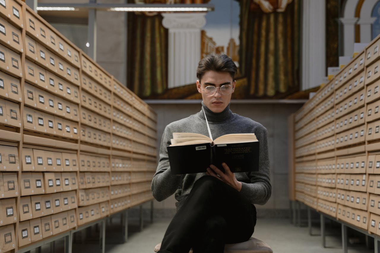
[[[209,3],[199,59],[226,54],[238,66],[233,98],[280,99],[299,90],[300,0],[130,0]],[[201,99],[194,81],[168,88],[168,29],[160,13],[128,14],[127,86],[143,99]]]

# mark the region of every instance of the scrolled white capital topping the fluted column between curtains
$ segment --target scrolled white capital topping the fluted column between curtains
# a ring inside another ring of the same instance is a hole
[[[162,13],[165,28],[200,29],[206,24],[206,13]]]

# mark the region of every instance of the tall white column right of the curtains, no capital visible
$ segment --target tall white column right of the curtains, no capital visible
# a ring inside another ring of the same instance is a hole
[[[326,76],[326,1],[302,2],[302,90],[318,86]]]

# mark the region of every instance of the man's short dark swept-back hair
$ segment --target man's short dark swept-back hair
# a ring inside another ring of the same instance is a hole
[[[196,77],[201,81],[202,76],[206,71],[226,71],[230,73],[232,79],[234,79],[237,73],[237,67],[233,60],[225,54],[209,54],[206,55],[198,63],[198,68],[196,69]]]

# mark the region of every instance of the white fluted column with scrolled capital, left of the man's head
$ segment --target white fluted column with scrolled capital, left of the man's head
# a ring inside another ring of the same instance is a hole
[[[162,13],[169,29],[168,88],[195,83],[206,13]]]

